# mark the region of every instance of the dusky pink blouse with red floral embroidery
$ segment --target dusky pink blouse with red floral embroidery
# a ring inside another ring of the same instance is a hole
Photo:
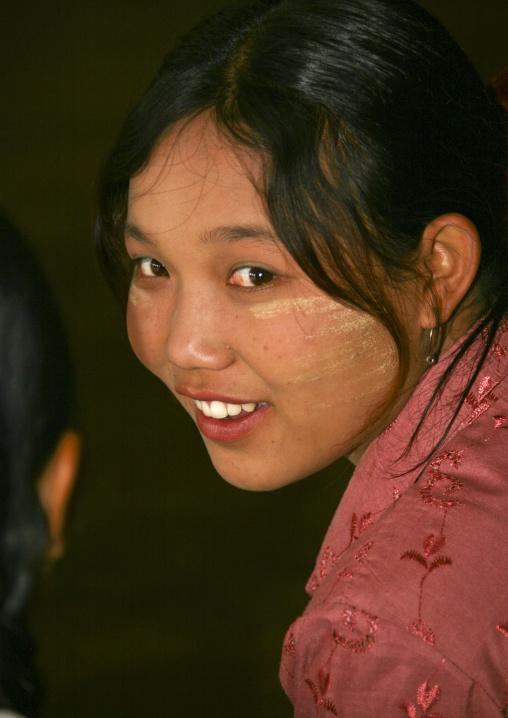
[[[295,718],[508,716],[508,322],[445,443],[414,468],[481,344],[409,455],[399,458],[454,348],[353,474],[283,646]]]

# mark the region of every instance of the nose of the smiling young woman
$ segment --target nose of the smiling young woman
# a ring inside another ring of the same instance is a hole
[[[182,370],[220,371],[234,361],[232,322],[227,310],[208,293],[182,293],[173,308],[166,357]]]

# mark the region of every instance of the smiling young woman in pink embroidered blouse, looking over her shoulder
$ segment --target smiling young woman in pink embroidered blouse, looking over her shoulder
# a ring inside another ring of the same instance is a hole
[[[104,169],[99,257],[218,472],[356,471],[288,631],[295,715],[508,715],[505,117],[410,0],[192,31]]]

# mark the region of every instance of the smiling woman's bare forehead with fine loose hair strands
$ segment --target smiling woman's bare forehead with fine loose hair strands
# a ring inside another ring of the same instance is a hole
[[[257,157],[221,137],[209,118],[198,117],[173,128],[131,179],[128,221],[168,231],[190,221],[213,224],[226,214],[229,221],[244,222],[246,215],[259,220],[265,214],[254,186],[260,171]]]

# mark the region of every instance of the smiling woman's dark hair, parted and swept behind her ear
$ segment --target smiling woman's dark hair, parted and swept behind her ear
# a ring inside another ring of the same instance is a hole
[[[391,333],[394,392],[410,357],[393,297],[418,276],[427,224],[446,213],[468,217],[482,242],[473,290],[487,314],[450,372],[487,329],[479,371],[508,303],[504,118],[434,18],[411,0],[258,0],[183,38],[129,115],[99,181],[98,255],[122,302],[129,180],[176,122],[203,112],[262,159],[268,215],[307,275]]]

